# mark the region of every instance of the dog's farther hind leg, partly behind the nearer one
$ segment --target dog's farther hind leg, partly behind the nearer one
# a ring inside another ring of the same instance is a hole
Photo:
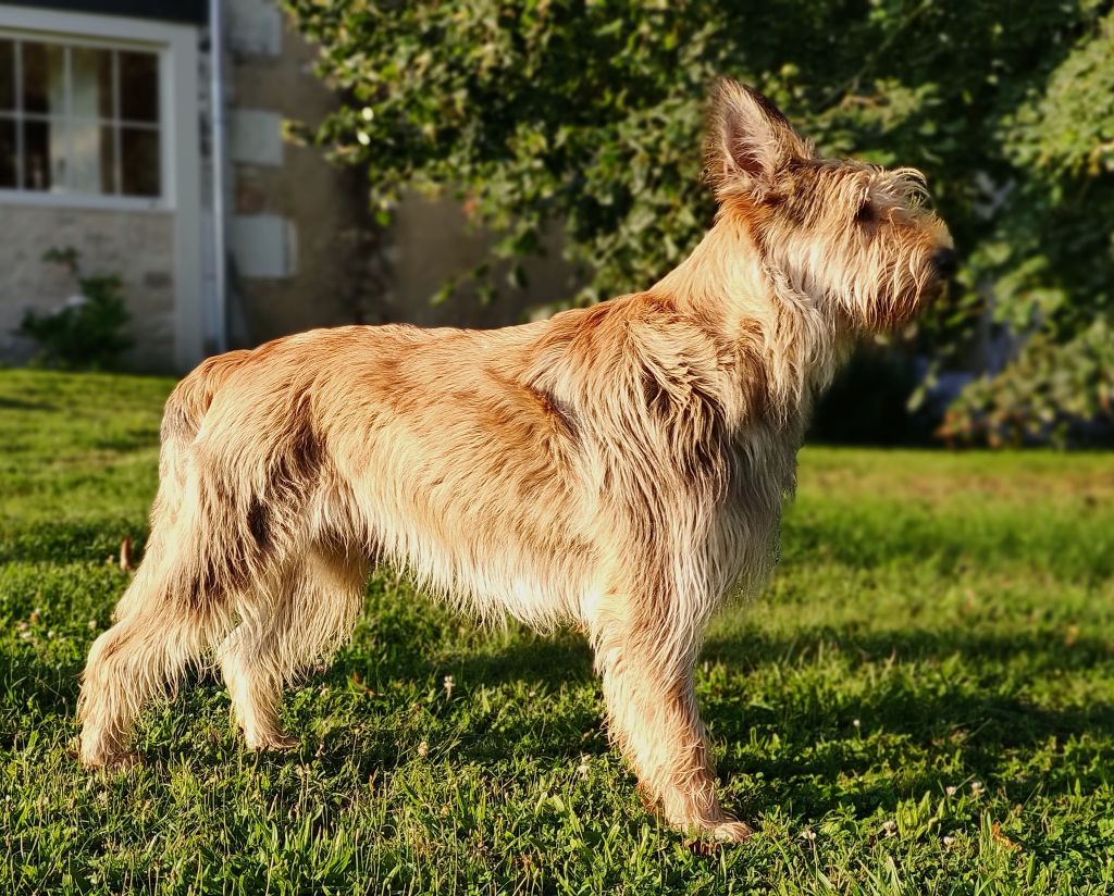
[[[368,562],[322,547],[306,549],[257,595],[221,646],[221,670],[233,713],[252,749],[292,749],[278,721],[282,691],[352,631],[363,607]]]

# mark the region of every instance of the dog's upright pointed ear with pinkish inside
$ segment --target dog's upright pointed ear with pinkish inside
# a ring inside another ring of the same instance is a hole
[[[811,155],[811,146],[758,90],[731,78],[715,86],[704,170],[716,198],[744,193],[761,201],[786,163]]]

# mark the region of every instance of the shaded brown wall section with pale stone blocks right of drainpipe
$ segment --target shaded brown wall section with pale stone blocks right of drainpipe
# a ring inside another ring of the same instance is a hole
[[[284,118],[315,124],[336,101],[310,70],[316,51],[273,3],[227,11],[232,341],[360,321],[379,289],[359,177],[282,137]]]

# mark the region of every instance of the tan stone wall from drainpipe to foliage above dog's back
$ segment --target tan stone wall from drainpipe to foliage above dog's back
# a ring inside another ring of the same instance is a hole
[[[233,341],[255,345],[286,333],[348,323],[504,326],[531,307],[575,293],[554,252],[526,266],[529,287],[477,301],[462,289],[430,297],[485,260],[494,242],[449,199],[410,196],[380,234],[370,219],[364,175],[338,169],[321,150],[281,139],[291,118],[314,125],[336,96],[312,73],[316,48],[290,30],[268,0],[231,0],[229,248]],[[504,283],[506,265],[496,265]]]

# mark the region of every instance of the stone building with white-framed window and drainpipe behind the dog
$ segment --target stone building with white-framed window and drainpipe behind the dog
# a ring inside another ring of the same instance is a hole
[[[0,2],[0,362],[30,355],[26,311],[75,293],[50,248],[123,277],[139,371],[313,326],[502,325],[573,292],[538,262],[529,296],[431,306],[490,240],[417,198],[379,233],[359,171],[283,140],[336,101],[314,56],[274,0]]]

